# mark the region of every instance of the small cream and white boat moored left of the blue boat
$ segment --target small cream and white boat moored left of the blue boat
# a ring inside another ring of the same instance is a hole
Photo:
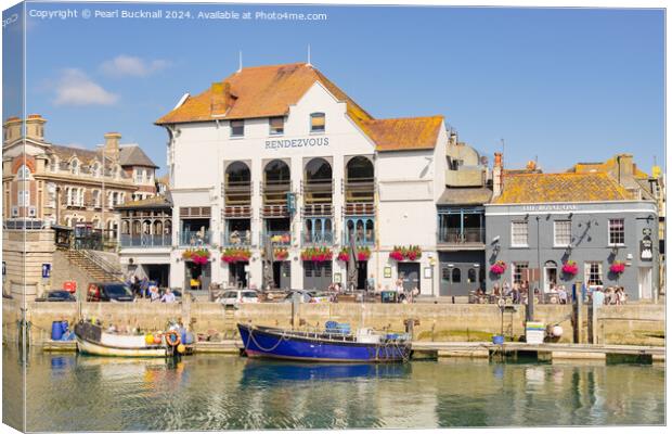
[[[117,357],[166,357],[168,347],[164,344],[148,345],[144,335],[106,333],[94,323],[80,321],[75,326],[77,349],[95,356]]]

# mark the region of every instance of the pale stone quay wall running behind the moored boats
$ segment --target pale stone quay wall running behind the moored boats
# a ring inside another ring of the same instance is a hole
[[[5,341],[14,341],[17,335],[18,306],[15,299],[3,299]],[[182,319],[185,323],[191,322],[194,332],[210,335],[218,333],[221,339],[236,337],[236,322],[281,328],[289,328],[293,322],[290,304],[249,304],[237,310],[224,310],[217,303],[161,304],[146,301],[81,304],[31,302],[26,307],[27,319],[31,324],[30,337],[35,343],[50,337],[52,321],[68,320],[73,323],[80,315],[83,318],[100,319],[104,324],[115,323],[142,330],[163,330],[168,320]],[[537,320],[563,328],[559,342],[572,342],[571,306],[540,305],[535,306],[534,311]],[[597,342],[664,345],[664,314],[663,305],[605,306],[597,318]],[[321,329],[326,321],[334,320],[349,322],[352,328],[373,327],[402,332],[403,321],[409,318],[419,321],[414,327],[414,339],[417,341],[490,341],[502,328],[502,315],[499,307],[493,305],[302,304],[294,312],[294,323],[299,329]],[[587,311],[584,311],[583,318],[587,318]],[[517,312],[504,315],[504,334],[515,339],[522,336],[524,323],[525,309],[520,306]],[[582,331],[587,333],[587,320],[583,321]]]

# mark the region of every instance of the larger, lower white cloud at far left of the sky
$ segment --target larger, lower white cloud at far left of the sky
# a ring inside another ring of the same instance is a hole
[[[76,68],[63,71],[55,89],[55,105],[111,105],[119,99]]]

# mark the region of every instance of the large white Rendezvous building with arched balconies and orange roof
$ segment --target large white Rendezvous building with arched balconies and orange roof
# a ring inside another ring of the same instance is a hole
[[[243,68],[186,94],[156,124],[169,135],[171,286],[199,277],[203,289],[261,288],[264,240],[277,259],[275,285],[345,283],[338,253],[351,229],[371,252],[360,261],[360,288],[372,275],[383,289],[402,277],[408,288],[438,295],[437,201],[448,168],[442,116],[375,119],[298,63]],[[419,258],[390,257],[395,246],[411,245],[419,246]],[[310,247],[333,257],[302,260]],[[207,248],[209,261],[184,259],[195,248]]]

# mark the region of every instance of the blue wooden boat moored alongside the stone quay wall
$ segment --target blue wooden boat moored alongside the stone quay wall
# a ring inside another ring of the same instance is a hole
[[[295,331],[238,323],[247,357],[301,361],[400,362],[411,356],[406,335],[377,334],[360,329],[341,331]]]

